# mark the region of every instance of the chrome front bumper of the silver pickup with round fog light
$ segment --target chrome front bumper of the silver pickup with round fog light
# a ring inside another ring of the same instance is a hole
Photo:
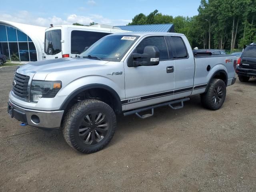
[[[59,128],[64,110],[41,111],[22,108],[10,100],[8,102],[8,113],[12,118],[31,126],[40,128]]]

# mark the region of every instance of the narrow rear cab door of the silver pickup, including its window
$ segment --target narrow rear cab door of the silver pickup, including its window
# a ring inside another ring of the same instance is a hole
[[[190,96],[194,86],[195,62],[185,36],[168,36],[174,61],[174,99]]]

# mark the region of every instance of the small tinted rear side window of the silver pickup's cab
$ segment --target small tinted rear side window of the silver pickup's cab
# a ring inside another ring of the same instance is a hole
[[[173,48],[173,58],[187,58],[188,53],[186,46],[181,37],[172,36],[172,48]]]

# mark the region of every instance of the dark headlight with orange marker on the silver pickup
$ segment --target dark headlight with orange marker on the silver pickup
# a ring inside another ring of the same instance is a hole
[[[40,98],[54,98],[61,89],[61,81],[36,81],[32,80],[30,100],[38,102]]]

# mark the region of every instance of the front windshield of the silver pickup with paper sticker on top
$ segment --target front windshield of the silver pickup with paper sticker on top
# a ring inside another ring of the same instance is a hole
[[[78,57],[100,58],[105,61],[120,61],[139,36],[110,35],[94,43]]]

